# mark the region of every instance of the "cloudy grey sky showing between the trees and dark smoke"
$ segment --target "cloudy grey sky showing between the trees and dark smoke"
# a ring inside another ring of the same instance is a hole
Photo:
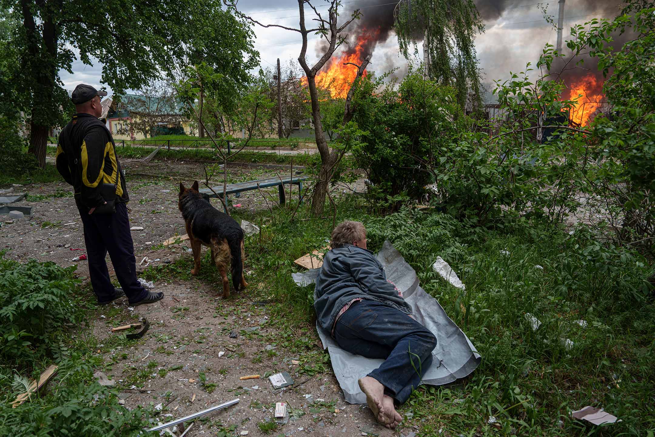
[[[398,68],[402,75],[409,66],[405,58],[398,54],[398,41],[390,24],[392,24],[393,0],[345,0],[346,9],[360,8],[362,20],[351,24],[360,28],[377,24],[383,28],[381,41],[373,50],[369,70],[382,73],[391,68]],[[519,72],[526,62],[536,62],[538,55],[546,43],[555,45],[557,31],[544,20],[539,6],[546,7],[547,14],[557,20],[557,0],[536,3],[536,0],[474,0],[485,23],[485,32],[477,36],[476,48],[480,67],[485,76],[485,83],[493,83],[494,79],[506,79],[510,71]],[[327,10],[325,0],[312,2],[319,12]],[[298,26],[297,0],[240,0],[238,6],[243,12],[263,24],[280,24],[291,28]],[[306,8],[307,9],[307,8]],[[614,18],[620,10],[620,2],[611,0],[567,0],[565,3],[564,37],[569,35],[572,25],[582,24],[597,16],[599,18]],[[305,15],[310,17],[309,10]],[[349,14],[341,16],[346,20]],[[309,24],[308,24],[309,26]],[[296,60],[301,43],[297,32],[280,28],[254,28],[255,47],[259,50],[262,67],[273,67],[277,58],[282,65],[289,60]],[[358,28],[353,26],[351,33]],[[386,35],[385,35],[386,33]],[[422,58],[421,43],[419,54]],[[310,47],[307,50],[309,62],[315,61],[317,51],[320,51],[320,40],[316,35],[310,36]],[[419,59],[420,61],[421,59]],[[73,75],[60,71],[65,88],[72,90],[78,83],[88,83],[96,87],[100,84],[102,64],[96,62],[93,66],[84,66],[82,62],[73,64]],[[108,90],[111,94],[111,90]]]

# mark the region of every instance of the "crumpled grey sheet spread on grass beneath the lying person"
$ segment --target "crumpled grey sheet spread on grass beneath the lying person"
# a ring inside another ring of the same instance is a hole
[[[398,251],[385,241],[377,259],[384,266],[386,277],[403,292],[405,301],[411,305],[414,318],[437,337],[437,347],[432,351],[434,361],[423,375],[423,384],[443,385],[465,377],[480,364],[480,354],[476,347],[457,325],[446,315],[438,301],[427,294],[419,284],[416,272]],[[299,286],[314,283],[319,269],[305,273],[293,273],[293,280]],[[332,368],[343,390],[346,402],[365,404],[366,396],[360,390],[357,380],[375,370],[383,360],[373,360],[361,355],[351,354],[337,346],[329,335],[316,325],[323,347],[329,352]]]

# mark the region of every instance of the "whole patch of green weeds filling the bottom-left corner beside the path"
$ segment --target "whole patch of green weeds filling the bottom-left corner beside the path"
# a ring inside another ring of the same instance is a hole
[[[124,408],[117,391],[96,382],[93,372],[102,357],[83,326],[94,306],[77,293],[74,272],[75,267],[52,262],[20,264],[0,257],[0,435],[143,435],[149,425],[149,411]],[[38,379],[50,364],[58,373],[48,389],[12,408],[30,378]]]

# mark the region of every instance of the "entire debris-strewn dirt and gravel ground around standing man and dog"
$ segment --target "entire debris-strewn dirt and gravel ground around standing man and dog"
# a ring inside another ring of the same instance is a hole
[[[143,227],[132,231],[137,264],[149,257],[153,265],[191,257],[179,245],[162,248],[164,240],[185,233],[178,211],[179,181],[191,184],[204,180],[202,167],[194,162],[130,162],[127,169],[130,193],[130,223]],[[231,170],[230,182],[287,175],[289,170],[240,167]],[[164,176],[147,176],[156,174]],[[218,184],[217,184],[218,185]],[[361,181],[358,185],[363,185]],[[54,261],[62,266],[77,263],[77,272],[88,281],[86,261],[72,261],[86,253],[83,227],[75,202],[63,181],[45,185],[14,187],[15,193],[30,197],[16,203],[32,206],[33,215],[14,223],[0,216],[0,248],[5,256],[25,262]],[[297,187],[294,187],[294,190]],[[361,187],[360,187],[361,189]],[[277,199],[277,189],[269,202]],[[295,195],[295,191],[294,191]],[[267,208],[257,191],[242,193],[233,204],[241,208]],[[216,202],[215,206],[219,206]],[[82,249],[82,250],[72,250]],[[107,265],[111,263],[107,257]],[[144,265],[138,267],[142,272]],[[203,265],[204,269],[210,269]],[[246,273],[248,266],[246,265]],[[257,290],[250,284],[248,290]],[[99,307],[94,313],[94,336],[98,354],[105,359],[103,370],[116,381],[127,408],[161,404],[162,422],[183,417],[209,406],[239,398],[236,406],[212,413],[196,421],[186,434],[263,436],[265,423],[272,420],[275,402],[288,402],[291,411],[286,425],[269,431],[286,436],[412,436],[415,428],[392,432],[375,423],[366,406],[346,404],[343,393],[324,363],[318,337],[311,330],[289,328],[283,320],[273,320],[266,302],[255,302],[248,290],[224,301],[217,288],[197,278],[158,280],[155,290],[166,295],[152,305],[128,307],[126,299]],[[138,341],[121,340],[110,328],[143,317],[151,322],[149,332]],[[232,333],[232,337],[231,334]],[[234,337],[236,333],[236,338]],[[300,352],[299,352],[300,351]],[[296,365],[291,360],[299,360]],[[309,364],[309,367],[303,364]],[[318,367],[314,364],[319,363]],[[310,370],[307,370],[307,369]],[[316,368],[314,372],[312,369]],[[273,390],[267,375],[288,371],[295,384]],[[240,380],[259,374],[259,379]],[[202,378],[204,377],[204,381]],[[229,431],[232,434],[221,434]],[[176,428],[176,435],[181,427]]]

